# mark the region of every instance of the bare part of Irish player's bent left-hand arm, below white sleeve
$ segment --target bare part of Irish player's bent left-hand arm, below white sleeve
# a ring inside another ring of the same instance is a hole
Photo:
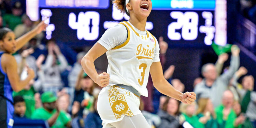
[[[106,72],[97,73],[94,65],[94,61],[108,50],[98,42],[89,50],[89,52],[83,57],[81,65],[88,76],[101,87],[109,85],[109,74]]]

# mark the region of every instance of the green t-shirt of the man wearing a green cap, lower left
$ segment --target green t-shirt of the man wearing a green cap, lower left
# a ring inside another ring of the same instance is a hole
[[[51,118],[54,114],[56,113],[56,109],[53,110],[52,113],[49,113],[46,111],[44,108],[38,108],[37,110],[34,111],[32,114],[31,118],[32,119],[42,119],[42,120],[47,120]],[[70,122],[71,117],[68,116],[64,111],[60,111],[60,114],[56,120],[56,122],[53,124],[51,128],[66,128],[66,124]]]

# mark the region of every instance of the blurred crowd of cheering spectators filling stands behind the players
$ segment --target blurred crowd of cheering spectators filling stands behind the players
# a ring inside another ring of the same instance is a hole
[[[256,24],[256,1],[237,3],[240,14]],[[30,20],[25,7],[22,0],[0,0],[0,28],[12,29],[16,38],[32,30],[39,22]],[[80,64],[90,47],[78,51],[57,39],[46,40],[44,35],[43,32],[37,35],[14,55],[21,79],[26,78],[27,67],[36,72],[36,78],[24,90],[13,93],[14,127],[41,123],[42,127],[51,128],[102,128],[96,107],[101,87],[84,73]],[[167,52],[168,43],[161,37],[158,42],[166,80],[181,92],[194,91],[197,101],[183,104],[160,94],[150,76],[148,97],[141,96],[140,110],[152,128],[256,127],[255,76],[248,74],[246,67],[240,67],[238,46],[233,45],[231,53],[219,55],[215,63],[202,65],[201,74],[194,74],[193,89],[189,87],[189,90],[181,78],[173,77],[181,71],[176,70],[175,65],[166,64],[171,56]],[[229,65],[224,65],[229,60]],[[106,67],[108,62],[101,57],[97,65]]]

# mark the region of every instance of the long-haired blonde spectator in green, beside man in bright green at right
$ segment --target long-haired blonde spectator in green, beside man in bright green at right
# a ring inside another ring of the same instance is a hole
[[[210,99],[201,98],[198,100],[197,117],[205,128],[218,128],[216,114]]]

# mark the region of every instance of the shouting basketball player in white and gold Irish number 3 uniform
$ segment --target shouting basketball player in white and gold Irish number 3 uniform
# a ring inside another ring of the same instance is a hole
[[[98,97],[97,110],[103,127],[150,128],[139,110],[139,96],[147,97],[149,73],[162,94],[183,103],[192,103],[196,94],[181,93],[163,77],[156,38],[145,30],[152,10],[151,0],[113,0],[130,19],[108,29],[82,59],[84,71],[104,87]],[[108,73],[97,74],[94,61],[106,53]]]

